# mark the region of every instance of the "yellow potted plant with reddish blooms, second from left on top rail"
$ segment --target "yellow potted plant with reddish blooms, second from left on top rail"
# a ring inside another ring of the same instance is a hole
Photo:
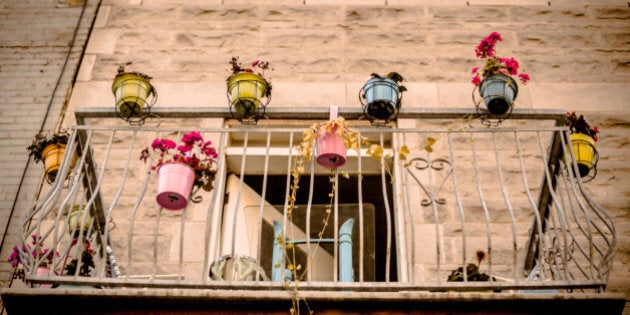
[[[256,120],[260,107],[264,108],[271,97],[271,83],[264,77],[265,70],[269,69],[269,62],[256,60],[251,63],[251,67],[243,67],[238,57],[232,57],[230,65],[232,75],[227,79],[230,109],[236,111],[236,118],[241,121],[252,118]],[[263,98],[266,100],[263,101]]]

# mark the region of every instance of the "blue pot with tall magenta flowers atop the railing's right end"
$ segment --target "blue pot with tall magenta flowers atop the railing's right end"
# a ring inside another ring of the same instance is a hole
[[[512,76],[517,76],[521,83],[526,84],[530,77],[526,73],[519,73],[518,61],[511,58],[498,57],[495,45],[502,41],[501,34],[492,32],[481,40],[475,53],[478,58],[485,59],[483,67],[472,69],[472,83],[479,87],[479,93],[493,115],[504,115],[511,111],[518,94],[518,85]]]

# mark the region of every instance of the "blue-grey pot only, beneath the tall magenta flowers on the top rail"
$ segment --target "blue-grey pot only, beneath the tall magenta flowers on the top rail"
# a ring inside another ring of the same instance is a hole
[[[518,85],[512,77],[497,73],[481,81],[479,93],[491,114],[503,115],[514,105]]]

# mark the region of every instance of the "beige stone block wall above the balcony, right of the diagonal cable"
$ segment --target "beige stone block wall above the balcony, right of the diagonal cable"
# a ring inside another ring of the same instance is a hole
[[[600,127],[587,189],[617,223],[608,290],[629,293],[629,29],[618,0],[104,0],[68,110],[111,107],[127,62],[153,77],[157,106],[224,107],[232,56],[272,64],[274,107],[360,106],[369,74],[390,71],[407,80],[405,107],[472,107],[473,49],[498,31],[497,53],[532,76],[517,108],[576,110]]]

